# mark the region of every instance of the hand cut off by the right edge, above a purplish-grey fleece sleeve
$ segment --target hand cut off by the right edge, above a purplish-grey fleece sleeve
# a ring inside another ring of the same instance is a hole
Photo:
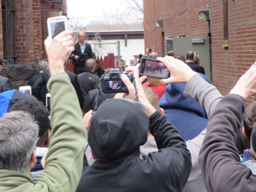
[[[256,65],[251,65],[250,69],[240,77],[237,84],[230,91],[232,94],[241,95],[243,98],[256,94]]]

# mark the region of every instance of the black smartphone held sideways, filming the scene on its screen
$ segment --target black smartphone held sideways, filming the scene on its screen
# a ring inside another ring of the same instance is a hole
[[[166,68],[163,62],[156,59],[150,59],[147,57],[141,58],[141,65],[139,66],[139,73],[142,76],[153,77],[153,78],[168,78],[170,72]]]

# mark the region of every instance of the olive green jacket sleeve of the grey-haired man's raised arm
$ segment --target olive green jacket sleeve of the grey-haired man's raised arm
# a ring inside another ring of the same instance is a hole
[[[87,143],[79,101],[67,73],[52,76],[47,89],[51,93],[51,140],[44,173],[33,182],[46,183],[48,191],[76,191]]]

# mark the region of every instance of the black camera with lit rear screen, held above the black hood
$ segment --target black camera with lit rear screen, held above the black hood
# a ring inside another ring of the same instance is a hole
[[[133,82],[133,73],[125,73],[131,82]],[[104,93],[125,93],[128,89],[121,80],[121,74],[119,69],[111,69],[109,74],[101,76],[101,87]]]

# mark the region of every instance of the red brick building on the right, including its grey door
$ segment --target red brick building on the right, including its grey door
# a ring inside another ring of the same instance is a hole
[[[199,19],[201,10],[209,10],[210,22]],[[254,0],[144,1],[145,48],[160,56],[171,49],[183,55],[196,51],[224,95],[256,60],[255,34]]]

